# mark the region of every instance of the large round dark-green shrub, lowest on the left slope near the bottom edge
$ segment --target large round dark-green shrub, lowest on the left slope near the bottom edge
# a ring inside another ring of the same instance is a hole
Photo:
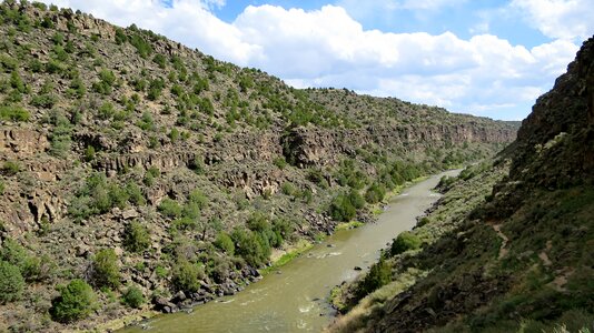
[[[95,307],[96,295],[87,282],[76,279],[58,289],[60,295],[51,301],[50,314],[62,323],[88,316]]]

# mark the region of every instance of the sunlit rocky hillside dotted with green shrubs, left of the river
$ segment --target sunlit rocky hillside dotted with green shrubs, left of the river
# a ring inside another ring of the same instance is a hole
[[[0,331],[232,294],[516,123],[296,90],[136,26],[0,4]]]

